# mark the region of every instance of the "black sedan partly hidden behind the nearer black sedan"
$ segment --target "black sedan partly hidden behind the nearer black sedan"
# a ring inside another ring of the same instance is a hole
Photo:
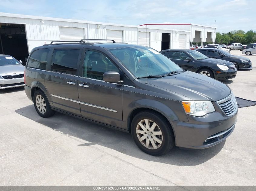
[[[230,53],[227,53],[227,51],[221,50],[221,49],[199,49],[198,52],[204,54],[205,56],[208,56],[209,58],[217,58],[221,60],[227,60],[229,62],[232,62],[237,69],[251,69],[251,60],[244,57],[244,56],[235,56]]]

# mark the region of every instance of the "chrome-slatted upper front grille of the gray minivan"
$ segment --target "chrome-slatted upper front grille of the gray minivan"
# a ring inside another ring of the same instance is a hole
[[[225,97],[224,99],[219,100],[218,104],[226,116],[232,116],[238,110],[236,98],[234,97],[232,92],[228,97]]]

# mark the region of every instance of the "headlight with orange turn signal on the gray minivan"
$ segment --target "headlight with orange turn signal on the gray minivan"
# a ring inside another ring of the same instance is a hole
[[[182,101],[181,103],[185,112],[192,116],[201,117],[215,111],[211,101]]]

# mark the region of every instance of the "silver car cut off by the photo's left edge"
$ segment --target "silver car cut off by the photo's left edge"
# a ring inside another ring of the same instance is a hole
[[[25,86],[25,67],[10,55],[0,54],[0,90]]]

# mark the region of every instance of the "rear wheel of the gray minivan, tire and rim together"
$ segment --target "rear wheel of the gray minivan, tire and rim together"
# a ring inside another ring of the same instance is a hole
[[[34,107],[38,115],[47,118],[54,114],[47,97],[41,90],[37,90],[33,96]]]

